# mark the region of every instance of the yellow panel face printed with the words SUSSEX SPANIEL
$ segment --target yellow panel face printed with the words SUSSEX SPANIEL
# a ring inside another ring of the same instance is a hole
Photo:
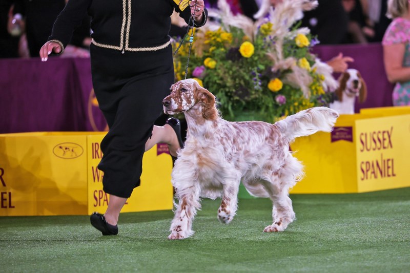
[[[358,192],[408,186],[410,115],[356,121]]]

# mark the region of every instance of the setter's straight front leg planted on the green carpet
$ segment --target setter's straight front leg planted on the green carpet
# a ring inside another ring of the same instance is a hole
[[[178,204],[175,209],[175,216],[171,222],[170,236],[168,239],[184,239],[194,234],[192,222],[196,215],[197,209],[201,207],[199,203],[199,189],[195,186],[177,189],[179,196]]]

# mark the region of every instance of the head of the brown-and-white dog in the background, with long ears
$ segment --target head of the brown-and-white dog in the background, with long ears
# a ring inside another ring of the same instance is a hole
[[[350,97],[359,97],[364,102],[367,97],[366,83],[356,69],[347,69],[339,77],[339,88],[335,91],[339,101],[343,100],[343,92]]]

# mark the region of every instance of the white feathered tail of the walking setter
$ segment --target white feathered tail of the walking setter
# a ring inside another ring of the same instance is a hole
[[[276,122],[289,142],[297,137],[309,136],[318,131],[331,132],[339,114],[327,107],[314,107],[300,111]]]

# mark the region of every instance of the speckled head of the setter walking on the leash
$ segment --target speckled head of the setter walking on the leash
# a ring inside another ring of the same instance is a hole
[[[200,110],[204,119],[216,119],[215,96],[199,85],[194,79],[180,80],[174,83],[171,94],[162,100],[163,112],[175,115],[191,109]]]

